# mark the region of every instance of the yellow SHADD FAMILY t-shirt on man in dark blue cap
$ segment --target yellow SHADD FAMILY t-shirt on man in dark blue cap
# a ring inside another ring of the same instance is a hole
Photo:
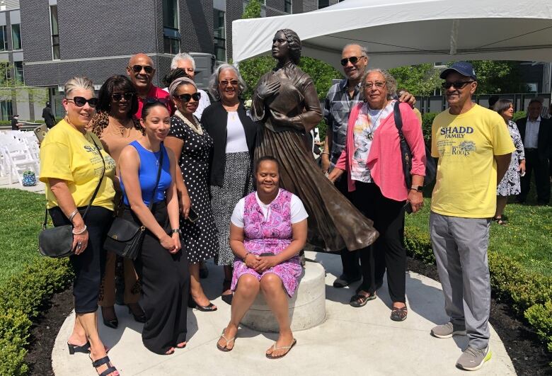
[[[439,113],[432,124],[431,155],[439,163],[431,210],[452,217],[493,217],[494,156],[514,150],[504,119],[495,111],[475,105],[461,115]]]

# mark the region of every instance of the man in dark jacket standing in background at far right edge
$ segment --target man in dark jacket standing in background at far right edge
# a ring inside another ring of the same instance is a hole
[[[527,118],[517,120],[519,135],[525,150],[525,176],[522,177],[522,193],[517,197],[523,203],[529,193],[531,172],[535,171],[536,195],[539,205],[550,201],[548,152],[552,147],[552,120],[541,118],[542,103],[534,98],[529,102]]]

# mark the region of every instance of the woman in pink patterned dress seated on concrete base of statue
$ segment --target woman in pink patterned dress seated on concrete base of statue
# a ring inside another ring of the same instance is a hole
[[[299,285],[301,264],[297,255],[306,242],[308,215],[296,195],[279,188],[279,169],[274,157],[259,158],[255,168],[257,191],[239,200],[232,213],[234,298],[230,322],[217,342],[220,351],[234,348],[238,325],[259,290],[280,326],[280,336],[266,351],[267,358],[282,358],[297,343],[290,327],[287,296],[292,297]]]

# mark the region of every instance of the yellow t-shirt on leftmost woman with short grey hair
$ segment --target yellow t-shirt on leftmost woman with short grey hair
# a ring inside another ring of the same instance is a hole
[[[105,175],[92,205],[114,210],[113,176],[115,176],[115,161],[107,154],[96,135],[86,132],[83,135],[65,120],[57,123],[40,144],[40,181],[46,184],[47,207],[58,206],[57,200],[50,190],[49,178],[67,181],[69,191],[77,207],[87,206],[98,185],[103,171],[103,162],[98,154],[101,150],[105,161]]]

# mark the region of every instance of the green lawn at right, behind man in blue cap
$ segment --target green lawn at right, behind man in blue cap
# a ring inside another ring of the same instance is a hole
[[[532,273],[552,275],[552,207],[508,203],[507,226],[493,222],[489,249],[514,258]],[[430,198],[421,212],[406,216],[406,227],[429,232]]]

